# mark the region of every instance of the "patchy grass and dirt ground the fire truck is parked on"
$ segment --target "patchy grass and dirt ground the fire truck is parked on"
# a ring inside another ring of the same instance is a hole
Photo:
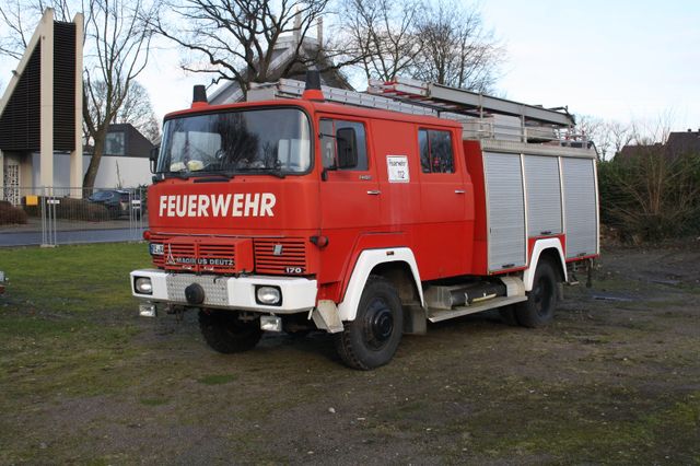
[[[0,464],[700,465],[699,259],[612,252],[547,328],[460,318],[357,372],[325,335],[221,356],[137,317],[144,244],[0,249]]]

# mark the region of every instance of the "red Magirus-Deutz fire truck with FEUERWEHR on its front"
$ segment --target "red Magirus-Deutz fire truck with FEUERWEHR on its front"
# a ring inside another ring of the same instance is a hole
[[[499,308],[547,324],[598,255],[595,151],[563,109],[399,80],[366,93],[282,80],[165,117],[140,313],[196,310],[208,345],[334,334],[387,363],[402,334]]]

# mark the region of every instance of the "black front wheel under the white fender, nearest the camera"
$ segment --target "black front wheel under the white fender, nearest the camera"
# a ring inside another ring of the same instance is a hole
[[[401,340],[404,312],[396,289],[370,276],[354,321],[336,334],[336,349],[350,368],[369,371],[392,360]]]

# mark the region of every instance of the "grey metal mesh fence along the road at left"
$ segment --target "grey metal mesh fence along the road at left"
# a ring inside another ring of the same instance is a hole
[[[148,229],[140,188],[0,188],[0,246],[139,241]]]

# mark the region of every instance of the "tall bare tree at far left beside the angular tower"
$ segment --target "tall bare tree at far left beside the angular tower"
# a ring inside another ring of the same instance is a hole
[[[152,34],[145,22],[153,10],[144,0],[15,0],[0,7],[0,22],[8,26],[0,51],[21,58],[46,8],[55,10],[57,21],[71,21],[77,12],[85,15],[83,127],[94,150],[83,186],[92,188],[108,126],[148,63]]]

